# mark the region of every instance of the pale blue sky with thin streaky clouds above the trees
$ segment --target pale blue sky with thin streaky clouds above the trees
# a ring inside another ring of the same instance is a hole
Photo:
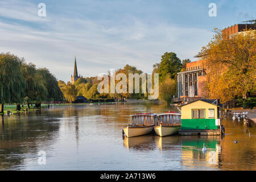
[[[46,5],[40,17],[39,3]],[[209,16],[216,3],[216,16]],[[0,52],[71,81],[126,64],[152,72],[165,52],[194,58],[220,29],[256,19],[256,2],[196,0],[0,0]]]

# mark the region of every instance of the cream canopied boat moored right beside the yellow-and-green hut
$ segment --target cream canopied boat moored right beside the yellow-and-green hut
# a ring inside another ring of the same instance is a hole
[[[157,118],[158,122],[154,126],[154,130],[160,137],[176,134],[181,127],[181,114],[174,111],[158,114]]]

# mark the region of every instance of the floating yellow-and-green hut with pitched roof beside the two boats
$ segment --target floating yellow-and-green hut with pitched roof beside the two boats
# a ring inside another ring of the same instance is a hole
[[[180,135],[221,135],[220,104],[214,99],[200,99],[181,105]]]

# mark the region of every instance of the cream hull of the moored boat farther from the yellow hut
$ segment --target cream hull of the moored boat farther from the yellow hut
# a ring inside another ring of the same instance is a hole
[[[123,127],[123,131],[126,137],[137,137],[146,135],[152,132],[154,126],[126,126]]]

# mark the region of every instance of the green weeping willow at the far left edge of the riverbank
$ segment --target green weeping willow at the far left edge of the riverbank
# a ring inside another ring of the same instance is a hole
[[[4,104],[23,101],[26,82],[22,76],[22,61],[10,53],[0,54],[0,113]]]

